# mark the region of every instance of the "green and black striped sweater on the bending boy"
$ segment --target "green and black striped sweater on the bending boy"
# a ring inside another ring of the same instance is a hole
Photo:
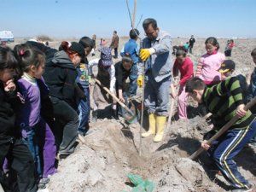
[[[225,79],[219,84],[206,88],[202,100],[212,113],[212,123],[216,130],[230,121],[236,115],[236,108],[243,104],[241,86],[236,77]],[[251,124],[254,117],[250,110],[237,120],[230,129],[244,129]]]

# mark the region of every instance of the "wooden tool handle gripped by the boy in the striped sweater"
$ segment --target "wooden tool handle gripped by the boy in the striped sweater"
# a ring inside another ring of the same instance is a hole
[[[248,102],[247,105],[245,106],[245,110],[247,111],[249,108],[252,108],[253,105],[256,104],[256,97],[253,98],[253,100],[251,102]],[[236,121],[239,118],[237,116],[233,117],[232,119],[230,119],[230,121],[224,125],[212,138],[210,138],[207,143],[211,144],[214,140],[218,139],[218,137],[222,136],[224,134],[225,131],[227,131],[230,126],[232,126],[234,123],[236,123]],[[189,159],[190,160],[195,160],[195,158],[201,154],[205,149],[204,148],[199,148],[197,151],[195,151],[194,154],[192,154]]]

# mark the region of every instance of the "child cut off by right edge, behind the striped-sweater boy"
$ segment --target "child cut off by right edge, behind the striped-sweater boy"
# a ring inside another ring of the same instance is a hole
[[[253,49],[251,53],[253,57],[253,62],[256,64],[256,48]],[[251,74],[250,84],[248,87],[248,96],[247,96],[247,102],[253,99],[253,97],[256,96],[256,67],[254,67],[253,73]],[[253,106],[252,110],[253,114],[256,114],[256,107]],[[251,144],[256,147],[256,134],[254,135],[253,139],[251,140]]]

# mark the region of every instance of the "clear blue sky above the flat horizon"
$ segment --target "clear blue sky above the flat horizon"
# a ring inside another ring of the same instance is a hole
[[[131,11],[133,0],[129,0]],[[128,36],[125,0],[0,0],[0,31],[15,37]],[[137,0],[137,23],[150,17],[173,38],[256,38],[256,0]]]

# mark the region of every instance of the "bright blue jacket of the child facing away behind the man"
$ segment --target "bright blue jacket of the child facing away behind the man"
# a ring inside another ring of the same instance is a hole
[[[133,63],[137,63],[139,61],[139,46],[136,43],[136,40],[129,39],[129,41],[125,44],[123,49],[121,50],[120,55],[124,56],[125,53],[129,53],[131,55],[131,59]]]

